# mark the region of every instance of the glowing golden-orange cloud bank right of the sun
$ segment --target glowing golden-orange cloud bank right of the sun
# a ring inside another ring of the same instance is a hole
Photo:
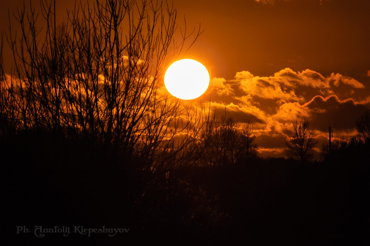
[[[252,121],[260,154],[275,157],[284,155],[292,122],[303,116],[309,117],[320,144],[327,140],[329,126],[334,138],[356,134],[356,119],[370,108],[370,97],[357,97],[364,90],[363,83],[340,73],[290,68],[269,77],[240,71],[232,80],[213,78],[209,89],[211,110],[222,114],[226,109],[239,122]],[[209,97],[202,99],[209,101]]]

